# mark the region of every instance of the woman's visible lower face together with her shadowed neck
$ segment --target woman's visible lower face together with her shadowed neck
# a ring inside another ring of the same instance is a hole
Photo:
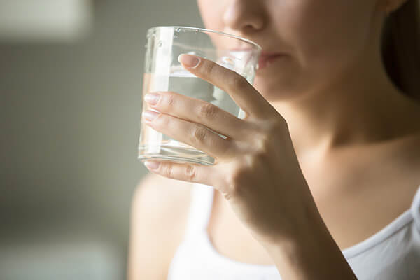
[[[405,1],[388,2],[397,8]],[[395,116],[419,116],[381,62],[386,1],[197,3],[206,28],[288,55],[258,71],[253,86],[286,119],[298,155],[400,136],[407,127]]]

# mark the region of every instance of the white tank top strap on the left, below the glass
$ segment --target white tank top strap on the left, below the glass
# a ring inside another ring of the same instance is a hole
[[[212,186],[194,183],[191,191],[190,210],[186,225],[185,238],[207,230],[213,207],[214,188]]]

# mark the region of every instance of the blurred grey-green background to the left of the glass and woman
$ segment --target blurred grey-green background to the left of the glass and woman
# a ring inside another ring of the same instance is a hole
[[[0,0],[0,279],[125,279],[148,28],[191,0]]]

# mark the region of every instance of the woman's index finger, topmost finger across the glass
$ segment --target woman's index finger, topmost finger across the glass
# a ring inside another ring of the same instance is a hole
[[[198,59],[198,63],[196,59]],[[198,57],[197,55],[183,54],[178,57],[178,60],[188,71],[195,74],[198,78],[207,80],[207,82],[228,92],[235,103],[246,113],[245,118],[247,116],[266,118],[268,117],[267,113],[269,114],[273,110],[275,111],[272,105],[262,97],[260,92],[255,90],[248,83],[248,80],[239,75],[239,73],[220,66],[209,59]]]

